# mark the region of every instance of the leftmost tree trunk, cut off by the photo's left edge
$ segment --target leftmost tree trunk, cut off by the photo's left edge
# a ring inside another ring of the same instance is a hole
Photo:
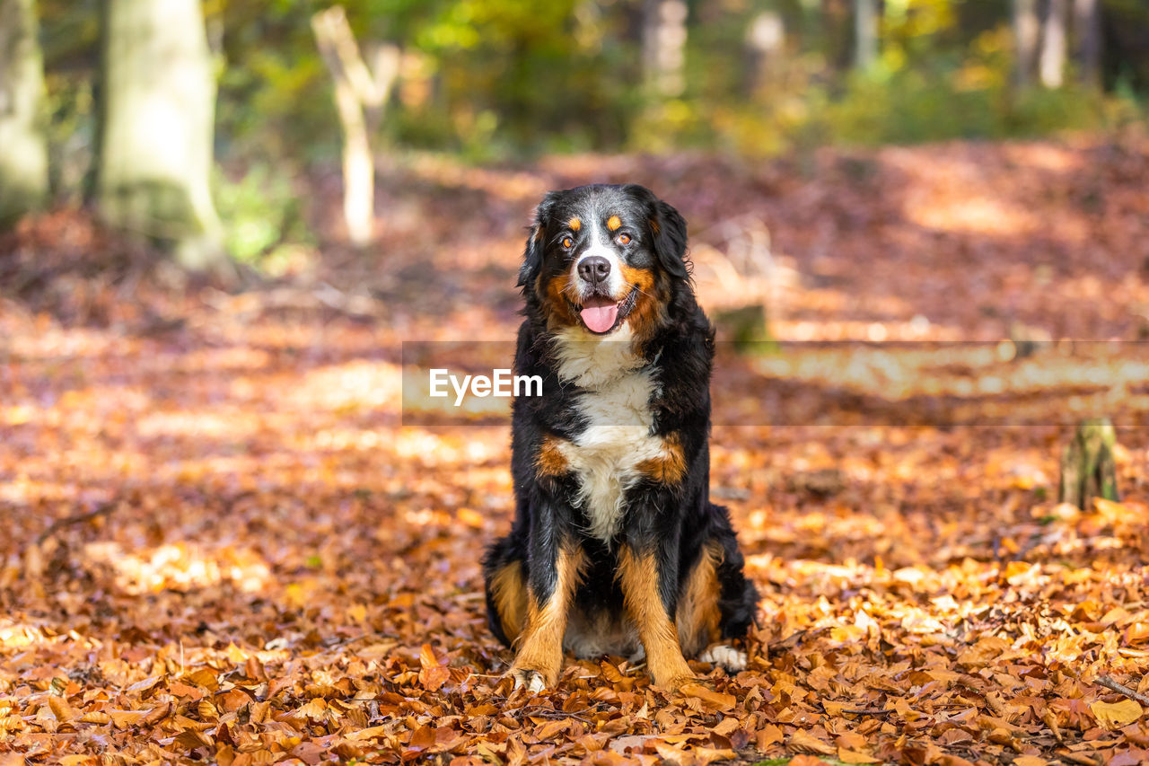
[[[0,228],[48,194],[44,61],[33,0],[0,0]]]

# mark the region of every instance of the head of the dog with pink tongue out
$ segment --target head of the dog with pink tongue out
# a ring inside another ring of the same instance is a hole
[[[550,331],[649,335],[676,286],[689,289],[686,221],[638,184],[548,193],[526,240],[519,286]]]

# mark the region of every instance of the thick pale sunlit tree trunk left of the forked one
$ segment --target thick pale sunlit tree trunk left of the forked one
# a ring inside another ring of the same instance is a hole
[[[228,263],[211,201],[215,81],[196,0],[105,0],[97,199],[190,270]]]

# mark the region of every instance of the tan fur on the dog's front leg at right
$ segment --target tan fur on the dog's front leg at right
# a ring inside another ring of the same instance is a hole
[[[678,630],[658,596],[658,565],[654,556],[639,556],[624,545],[618,551],[618,576],[626,611],[639,627],[655,684],[676,689],[693,679],[678,643]]]

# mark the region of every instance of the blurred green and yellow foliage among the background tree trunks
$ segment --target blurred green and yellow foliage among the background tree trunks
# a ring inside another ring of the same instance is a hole
[[[267,168],[332,167],[341,136],[313,14],[333,0],[203,0],[216,56],[216,156],[256,168],[221,182],[229,244],[267,266],[277,243],[308,242],[291,183]],[[640,0],[342,0],[364,51],[402,49],[376,137],[487,162],[541,152],[717,150],[772,155],[824,144],[1008,138],[1141,120],[1149,12],[1102,0],[1105,93],[1012,86],[1009,3],[885,0],[880,55],[855,71],[851,3],[688,2],[686,90],[642,87]],[[39,0],[52,182],[74,200],[91,177],[99,86],[99,0]],[[762,14],[785,30],[756,60]],[[1070,78],[1072,82],[1072,78]],[[262,169],[261,169],[262,168]]]

